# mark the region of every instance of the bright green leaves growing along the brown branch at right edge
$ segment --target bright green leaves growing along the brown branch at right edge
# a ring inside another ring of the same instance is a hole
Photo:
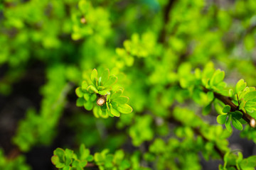
[[[186,74],[187,75],[187,74]],[[255,88],[247,87],[243,79],[240,79],[235,86],[235,92],[233,89],[227,87],[224,80],[225,72],[220,71],[220,69],[215,70],[213,63],[206,64],[205,69],[201,71],[196,69],[194,76],[190,79],[183,79],[181,77],[180,84],[183,88],[190,89],[192,91],[193,100],[196,103],[200,103],[203,108],[203,115],[210,113],[212,104],[217,108],[218,115],[217,122],[221,125],[225,124],[225,127],[229,132],[232,132],[231,123],[233,126],[242,130],[242,125],[247,122],[242,118],[243,114],[250,114],[252,118],[256,115],[254,111],[256,109],[255,105]],[[193,86],[188,86],[188,84],[193,84]],[[233,103],[232,106],[226,105],[223,107],[222,111],[218,105],[223,106],[225,101],[221,101],[221,98],[216,96],[223,96],[223,100],[228,100],[229,103]],[[215,100],[218,98],[218,101]],[[231,107],[236,107],[232,108]]]

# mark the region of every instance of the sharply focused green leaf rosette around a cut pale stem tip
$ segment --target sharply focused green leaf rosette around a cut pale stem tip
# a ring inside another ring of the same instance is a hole
[[[97,70],[93,69],[91,83],[82,81],[82,86],[75,90],[78,95],[77,106],[84,106],[91,111],[96,118],[119,117],[120,113],[131,113],[132,107],[127,104],[129,98],[122,96],[123,89],[114,89],[117,77],[110,76],[110,70],[105,69],[98,77]]]

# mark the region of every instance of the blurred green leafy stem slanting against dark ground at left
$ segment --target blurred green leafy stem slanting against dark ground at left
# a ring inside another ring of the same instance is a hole
[[[36,143],[49,145],[53,140],[56,125],[65,105],[65,96],[71,89],[64,76],[65,67],[52,67],[48,69],[47,74],[48,83],[41,89],[44,98],[39,114],[34,109],[28,110],[26,118],[19,123],[13,138],[14,143],[24,152]]]

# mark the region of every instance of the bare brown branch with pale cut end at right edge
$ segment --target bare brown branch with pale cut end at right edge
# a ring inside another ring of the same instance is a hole
[[[204,92],[208,92],[209,90],[203,87]],[[216,92],[213,92],[214,97],[218,98],[218,100],[222,101],[225,105],[230,106],[231,111],[240,111],[242,113],[242,119],[244,119],[252,128],[255,128],[255,118],[252,118],[248,113],[245,113],[244,111],[240,110],[238,106],[233,103],[231,98],[227,96],[223,96],[221,94],[218,94]]]

